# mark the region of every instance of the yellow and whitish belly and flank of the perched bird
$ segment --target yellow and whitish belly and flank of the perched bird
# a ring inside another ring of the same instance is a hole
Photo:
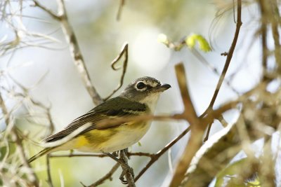
[[[83,152],[113,152],[136,144],[150,127],[149,122],[126,123],[119,127],[104,130],[91,130],[74,138],[60,150],[67,148],[77,149]]]

